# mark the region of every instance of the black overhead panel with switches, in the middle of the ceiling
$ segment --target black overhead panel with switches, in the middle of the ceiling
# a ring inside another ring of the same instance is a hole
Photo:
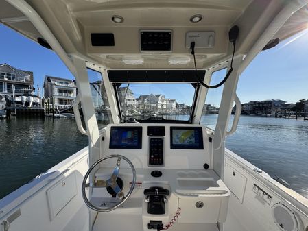
[[[171,30],[141,30],[140,50],[141,51],[171,51]]]

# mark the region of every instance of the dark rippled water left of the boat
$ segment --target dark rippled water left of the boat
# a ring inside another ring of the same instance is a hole
[[[86,145],[71,119],[0,120],[0,198]]]

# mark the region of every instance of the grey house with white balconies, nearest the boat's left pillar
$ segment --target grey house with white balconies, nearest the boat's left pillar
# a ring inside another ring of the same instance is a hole
[[[54,97],[56,108],[69,107],[76,97],[76,83],[74,80],[45,75],[44,97]]]

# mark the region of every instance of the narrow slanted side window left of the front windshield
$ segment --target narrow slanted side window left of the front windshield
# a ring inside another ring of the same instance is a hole
[[[101,73],[88,69],[88,82],[90,82],[97,124],[101,129],[106,127],[108,123],[113,123]]]

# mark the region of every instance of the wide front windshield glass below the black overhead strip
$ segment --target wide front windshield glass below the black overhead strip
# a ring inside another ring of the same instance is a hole
[[[191,84],[121,84],[123,120],[149,118],[189,121],[195,88]]]

